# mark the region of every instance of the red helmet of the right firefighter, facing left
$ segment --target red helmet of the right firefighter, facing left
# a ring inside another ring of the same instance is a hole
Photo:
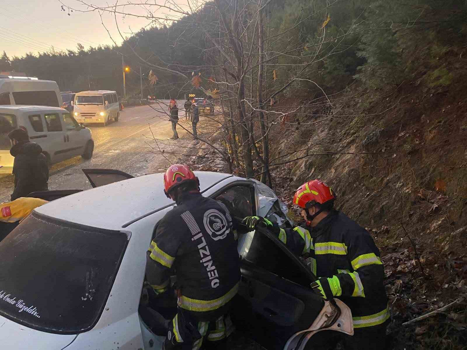
[[[300,186],[293,196],[293,204],[308,209],[316,203],[325,204],[333,201],[336,196],[333,190],[319,179],[312,180]]]

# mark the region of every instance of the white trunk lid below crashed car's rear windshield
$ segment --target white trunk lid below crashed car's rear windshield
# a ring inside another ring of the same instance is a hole
[[[76,338],[75,334],[62,335],[41,332],[0,316],[0,344],[8,350],[62,350]]]

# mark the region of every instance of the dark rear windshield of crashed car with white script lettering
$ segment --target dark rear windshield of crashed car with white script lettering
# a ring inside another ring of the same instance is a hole
[[[50,333],[91,329],[127,241],[124,232],[29,215],[0,242],[0,315]]]

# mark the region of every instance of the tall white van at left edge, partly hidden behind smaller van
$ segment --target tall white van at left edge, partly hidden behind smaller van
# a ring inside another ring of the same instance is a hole
[[[62,106],[56,82],[0,75],[0,105]]]

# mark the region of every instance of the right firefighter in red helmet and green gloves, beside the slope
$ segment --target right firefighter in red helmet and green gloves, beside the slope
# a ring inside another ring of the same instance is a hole
[[[382,349],[389,323],[380,252],[368,232],[334,209],[332,189],[320,180],[300,186],[293,204],[302,208],[304,226],[282,229],[262,217],[246,217],[250,228],[260,224],[307,261],[318,279],[311,284],[324,299],[337,297],[352,310],[354,336],[345,336],[346,350]]]

